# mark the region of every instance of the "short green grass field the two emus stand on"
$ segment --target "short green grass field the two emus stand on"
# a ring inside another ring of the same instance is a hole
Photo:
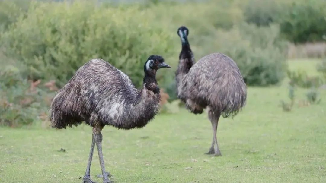
[[[233,120],[220,120],[222,157],[204,155],[212,139],[206,114],[182,110],[158,115],[143,129],[106,127],[106,169],[116,183],[326,182],[326,91],[320,104],[300,107],[306,91],[297,89],[293,110],[283,112],[278,105],[288,99],[287,86],[248,88],[244,110]],[[0,182],[82,182],[91,128],[39,126],[0,129]],[[93,180],[102,182],[100,173],[95,150]]]

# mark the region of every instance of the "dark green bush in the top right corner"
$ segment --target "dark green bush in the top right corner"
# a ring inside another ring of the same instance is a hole
[[[294,43],[322,41],[326,35],[326,1],[299,0],[283,3],[276,22],[286,39]]]

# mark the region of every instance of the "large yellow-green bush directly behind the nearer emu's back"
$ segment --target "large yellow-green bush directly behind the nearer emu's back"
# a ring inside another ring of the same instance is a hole
[[[26,18],[3,35],[7,54],[27,66],[28,78],[55,79],[62,86],[92,58],[102,58],[131,76],[137,86],[151,54],[166,59],[170,33],[146,21],[138,7],[104,8],[92,2],[33,4]],[[141,21],[140,21],[141,20]]]

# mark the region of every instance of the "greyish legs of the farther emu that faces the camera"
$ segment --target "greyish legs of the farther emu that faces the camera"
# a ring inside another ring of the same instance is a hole
[[[220,149],[218,148],[217,139],[216,139],[216,130],[217,130],[217,124],[218,124],[218,119],[220,118],[220,115],[221,114],[214,113],[212,110],[208,111],[208,118],[212,123],[213,141],[212,141],[211,148],[209,149],[209,151],[206,154],[213,154],[214,156],[222,156]]]

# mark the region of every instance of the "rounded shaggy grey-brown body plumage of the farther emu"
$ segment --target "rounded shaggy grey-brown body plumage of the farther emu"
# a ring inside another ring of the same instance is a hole
[[[195,63],[184,78],[187,97],[209,105],[224,116],[237,113],[246,101],[246,85],[236,63],[221,53],[212,53]]]

